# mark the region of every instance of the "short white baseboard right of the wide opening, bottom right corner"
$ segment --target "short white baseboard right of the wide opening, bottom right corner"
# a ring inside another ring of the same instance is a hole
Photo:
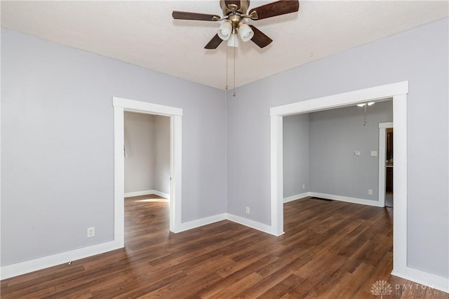
[[[403,279],[407,279],[410,281],[415,281],[417,284],[429,286],[429,288],[431,289],[449,293],[449,279],[447,277],[441,277],[435,274],[427,273],[410,267],[406,267],[406,269],[404,270],[394,269],[393,272],[391,272],[391,275],[401,277]],[[405,288],[406,290],[408,290],[410,286],[405,286]]]

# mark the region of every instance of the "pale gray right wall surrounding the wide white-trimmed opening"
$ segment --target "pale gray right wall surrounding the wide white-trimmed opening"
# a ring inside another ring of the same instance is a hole
[[[408,265],[448,277],[448,18],[238,88],[227,102],[227,212],[270,223],[269,107],[409,81]],[[429,152],[430,151],[430,152]]]

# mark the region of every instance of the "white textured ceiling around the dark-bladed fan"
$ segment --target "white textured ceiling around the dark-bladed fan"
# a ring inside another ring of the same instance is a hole
[[[252,0],[250,8],[269,2]],[[297,13],[248,21],[274,41],[263,49],[240,43],[236,86],[448,17],[448,3],[300,1]],[[220,23],[173,20],[173,10],[221,15],[219,0],[1,1],[1,27],[225,89],[228,47],[203,48]]]

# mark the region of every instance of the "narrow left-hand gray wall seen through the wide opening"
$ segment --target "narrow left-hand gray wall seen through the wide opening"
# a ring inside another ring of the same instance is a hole
[[[283,197],[307,191],[310,191],[309,114],[283,117]]]

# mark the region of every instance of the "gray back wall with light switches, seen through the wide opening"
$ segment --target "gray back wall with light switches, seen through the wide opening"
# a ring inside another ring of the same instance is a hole
[[[314,112],[309,119],[310,191],[377,201],[379,123],[393,121],[393,102],[368,107],[365,126],[357,106]]]

